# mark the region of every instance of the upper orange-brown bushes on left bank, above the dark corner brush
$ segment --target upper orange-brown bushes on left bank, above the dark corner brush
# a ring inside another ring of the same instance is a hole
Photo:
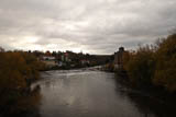
[[[37,80],[43,63],[28,52],[0,52],[0,109],[12,105]]]

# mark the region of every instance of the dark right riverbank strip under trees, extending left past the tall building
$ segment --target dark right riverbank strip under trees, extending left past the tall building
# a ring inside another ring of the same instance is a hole
[[[117,82],[121,82],[124,86],[135,90],[134,93],[140,93],[143,96],[153,98],[156,102],[164,103],[166,105],[176,105],[176,93],[168,92],[166,89],[160,85],[154,85],[150,82],[136,82],[129,77],[129,73],[124,69],[117,69],[112,66],[103,66],[101,71],[116,73]]]

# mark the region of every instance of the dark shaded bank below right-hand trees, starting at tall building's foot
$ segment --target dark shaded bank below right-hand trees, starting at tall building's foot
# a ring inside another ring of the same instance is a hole
[[[134,82],[132,82],[128,74],[125,73],[119,73],[116,72],[116,80],[117,82],[120,82],[122,85],[127,86],[129,90],[133,90],[134,94],[141,94],[143,96],[146,96],[148,98],[152,98],[156,102],[160,102],[165,105],[170,105],[174,106],[176,105],[176,93],[170,93],[167,90],[165,90],[162,86],[156,86],[156,85],[145,85],[145,84],[140,84],[136,85]]]

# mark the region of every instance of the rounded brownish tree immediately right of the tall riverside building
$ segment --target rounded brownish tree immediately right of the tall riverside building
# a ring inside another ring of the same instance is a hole
[[[148,47],[140,47],[135,55],[130,56],[130,60],[124,68],[129,73],[130,80],[138,84],[150,84],[154,72],[154,54]]]

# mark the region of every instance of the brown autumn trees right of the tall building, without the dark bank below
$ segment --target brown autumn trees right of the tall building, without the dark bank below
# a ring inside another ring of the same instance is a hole
[[[176,92],[176,34],[140,46],[123,56],[123,67],[136,85],[155,85]]]

